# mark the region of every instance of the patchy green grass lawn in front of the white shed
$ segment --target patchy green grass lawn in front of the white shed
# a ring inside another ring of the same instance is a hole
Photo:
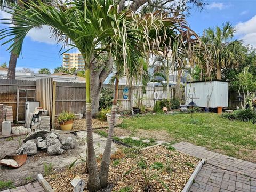
[[[165,130],[173,141],[187,141],[212,151],[256,162],[256,124],[230,121],[214,113],[143,115],[124,119],[121,128]]]

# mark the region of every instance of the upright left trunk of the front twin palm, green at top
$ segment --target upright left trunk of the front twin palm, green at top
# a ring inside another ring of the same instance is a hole
[[[93,146],[92,135],[92,105],[90,94],[90,69],[85,71],[86,79],[86,130],[87,130],[87,164],[88,164],[88,183],[89,191],[97,191],[100,189],[100,178],[97,170],[96,156]]]

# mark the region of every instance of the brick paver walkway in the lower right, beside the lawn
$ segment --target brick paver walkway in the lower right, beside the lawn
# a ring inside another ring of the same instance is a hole
[[[256,192],[256,164],[214,153],[187,142],[176,143],[173,147],[206,160],[189,191]]]

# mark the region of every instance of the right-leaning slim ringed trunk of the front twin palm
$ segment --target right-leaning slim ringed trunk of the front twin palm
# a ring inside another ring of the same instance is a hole
[[[115,119],[116,119],[116,104],[117,104],[117,97],[118,97],[118,84],[119,79],[116,76],[115,82],[115,95],[113,99],[113,105],[111,109],[111,119],[110,125],[108,130],[108,139],[106,143],[106,147],[102,156],[101,166],[100,166],[100,185],[101,187],[106,187],[108,185],[108,170],[110,164],[110,156],[111,156],[111,145],[112,145],[112,138],[114,133],[115,127]]]

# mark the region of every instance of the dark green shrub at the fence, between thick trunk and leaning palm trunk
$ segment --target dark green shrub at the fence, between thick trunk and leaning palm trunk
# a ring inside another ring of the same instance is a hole
[[[113,90],[102,88],[99,102],[99,110],[106,109],[112,106]]]

